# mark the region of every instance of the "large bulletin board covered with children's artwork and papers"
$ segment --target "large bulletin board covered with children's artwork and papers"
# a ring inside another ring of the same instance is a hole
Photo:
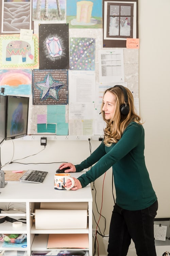
[[[33,57],[27,55],[24,64],[19,59],[21,56],[11,56],[15,65],[1,63],[0,87],[5,87],[5,94],[30,97],[30,135],[103,135],[105,124],[99,113],[105,89],[116,84],[128,87],[133,93],[139,114],[139,41],[127,36],[130,41],[125,47],[112,47],[112,44],[109,44],[111,47],[105,47],[103,44],[102,5],[104,2],[110,4],[119,1],[91,0],[86,1],[86,6],[83,5],[84,1],[79,0],[59,2],[59,6],[53,6],[55,14],[51,16],[50,6],[48,11],[41,6],[41,12],[38,13],[38,0],[33,1],[30,10],[33,20],[29,27],[31,31],[31,24],[34,24],[33,38],[36,44],[31,53]],[[129,12],[127,1],[123,2],[125,12],[121,26],[131,28],[132,24],[126,22]],[[136,2],[130,2],[130,6]],[[79,15],[81,8],[88,10],[85,17]],[[115,15],[118,17],[118,12],[111,14],[112,19]],[[137,20],[133,22],[138,24]],[[24,32],[26,34],[28,28]],[[19,36],[16,31],[15,34],[11,34],[12,31],[6,33],[10,34],[11,41],[13,37]],[[0,50],[5,52],[3,38],[4,32],[1,31]],[[17,64],[17,61],[20,63]]]

